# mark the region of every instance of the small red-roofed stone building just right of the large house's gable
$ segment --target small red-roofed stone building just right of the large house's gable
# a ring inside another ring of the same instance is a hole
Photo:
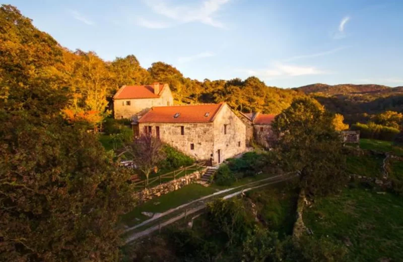
[[[250,146],[254,140],[257,144],[269,148],[270,140],[274,139],[271,124],[276,115],[259,112],[239,113],[241,120],[246,125],[246,145]]]

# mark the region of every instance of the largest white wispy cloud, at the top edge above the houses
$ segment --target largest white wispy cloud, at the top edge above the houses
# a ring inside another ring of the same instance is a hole
[[[199,22],[217,28],[225,29],[226,26],[216,20],[215,14],[231,0],[205,0],[198,6],[189,5],[169,5],[166,0],[148,0],[145,2],[155,13],[171,20],[170,23],[165,23],[166,27],[171,27],[177,24],[185,24],[190,22]],[[154,25],[155,22],[150,19],[140,18],[142,23],[140,26]],[[159,22],[161,23],[161,22]],[[164,28],[166,28],[164,27]],[[163,27],[149,27],[163,28]]]

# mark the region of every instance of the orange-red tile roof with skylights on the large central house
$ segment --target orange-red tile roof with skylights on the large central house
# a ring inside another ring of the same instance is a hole
[[[174,105],[153,107],[139,119],[139,123],[207,123],[214,120],[214,116],[225,103]],[[179,113],[178,117],[174,117]]]

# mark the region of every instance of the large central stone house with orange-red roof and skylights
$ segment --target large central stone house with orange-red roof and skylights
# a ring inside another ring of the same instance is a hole
[[[245,124],[226,103],[155,106],[133,122],[135,135],[150,134],[198,160],[218,164],[245,151]]]

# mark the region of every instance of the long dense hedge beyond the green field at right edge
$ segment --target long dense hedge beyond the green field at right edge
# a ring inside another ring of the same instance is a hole
[[[399,129],[388,127],[374,122],[368,124],[356,123],[351,126],[353,130],[360,130],[361,138],[378,139],[385,141],[393,141],[399,134]]]

